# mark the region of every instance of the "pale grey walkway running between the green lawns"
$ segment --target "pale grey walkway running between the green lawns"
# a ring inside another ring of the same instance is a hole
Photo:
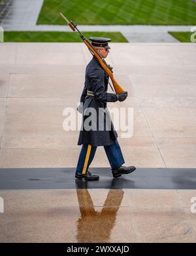
[[[0,5],[0,24],[5,31],[63,31],[68,26],[36,25],[43,0],[9,0]],[[58,15],[58,14],[57,14]],[[76,20],[74,21],[76,22]],[[89,26],[81,25],[82,31],[121,32],[130,42],[177,42],[169,31],[189,32],[191,26]]]

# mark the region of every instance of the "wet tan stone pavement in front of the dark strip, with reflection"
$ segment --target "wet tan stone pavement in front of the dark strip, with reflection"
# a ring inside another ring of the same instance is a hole
[[[196,213],[190,209],[195,190],[87,186],[0,190],[0,242],[196,242]]]

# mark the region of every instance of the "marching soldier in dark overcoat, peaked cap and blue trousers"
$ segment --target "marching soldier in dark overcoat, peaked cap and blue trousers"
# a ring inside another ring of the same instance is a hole
[[[111,40],[104,37],[90,37],[90,40],[91,45],[95,47],[96,51],[101,54],[103,58],[106,58],[110,52],[108,42]],[[75,177],[77,179],[86,179],[88,181],[99,179],[98,175],[94,175],[88,171],[91,161],[95,156],[97,146],[104,146],[114,178],[135,171],[135,166],[123,166],[125,161],[120,145],[118,144],[118,135],[111,119],[108,118],[106,108],[106,102],[125,100],[127,98],[127,92],[122,92],[120,95],[107,93],[108,78],[108,74],[105,73],[105,70],[103,70],[97,58],[93,56],[86,67],[85,85],[80,98],[80,105],[78,106],[78,111],[83,113],[83,119],[82,130],[80,131],[78,139],[78,145],[82,145],[82,150],[76,167]],[[95,117],[91,118],[91,127],[94,129],[87,129],[84,125],[85,121],[88,121],[88,117],[93,115],[93,112],[90,115],[89,109],[94,110],[96,114]],[[101,116],[99,110],[102,110]],[[104,129],[99,129],[101,119],[103,120]],[[110,125],[110,129],[106,129],[107,125]]]

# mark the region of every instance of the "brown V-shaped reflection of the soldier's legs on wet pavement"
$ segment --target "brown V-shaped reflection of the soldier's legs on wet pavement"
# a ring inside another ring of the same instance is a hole
[[[101,212],[95,211],[87,189],[76,189],[76,192],[81,213],[77,221],[78,242],[109,242],[116,213],[122,203],[123,190],[109,190]]]

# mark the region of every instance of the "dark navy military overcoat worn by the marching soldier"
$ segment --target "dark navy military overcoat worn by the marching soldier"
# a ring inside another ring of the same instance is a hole
[[[84,108],[82,114],[82,129],[80,131],[78,145],[90,144],[91,146],[108,146],[113,144],[118,137],[110,119],[108,108],[106,108],[106,102],[116,102],[117,96],[114,93],[106,93],[107,89],[108,74],[105,73],[97,58],[93,56],[86,67],[84,90],[80,98],[80,102],[84,104]],[[90,117],[90,108],[96,112],[95,119]],[[92,129],[86,129],[84,125],[85,121],[88,121],[86,119],[89,119],[89,117],[92,119],[90,121]],[[93,122],[96,123],[96,129]],[[101,129],[99,128],[100,123]]]

